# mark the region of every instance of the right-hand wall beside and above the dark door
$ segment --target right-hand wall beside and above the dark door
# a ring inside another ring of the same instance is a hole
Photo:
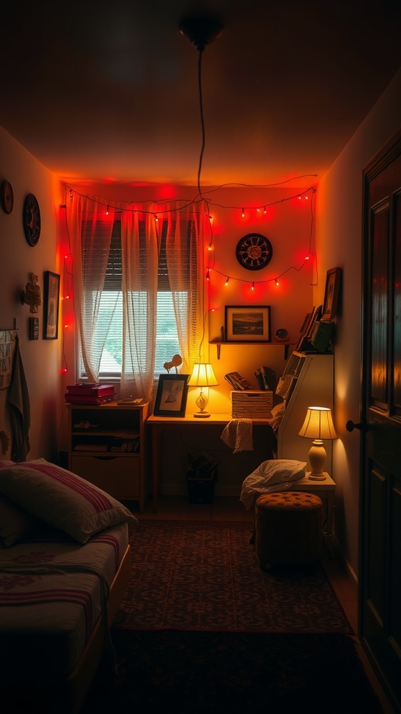
[[[337,484],[335,535],[351,570],[358,571],[360,433],[345,429],[360,421],[362,296],[362,171],[401,127],[401,71],[345,146],[316,193],[316,252],[323,276],[342,268],[342,302],[336,325],[333,478]]]

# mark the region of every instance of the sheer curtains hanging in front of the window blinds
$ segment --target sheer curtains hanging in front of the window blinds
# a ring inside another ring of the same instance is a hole
[[[194,362],[207,361],[208,321],[205,307],[205,230],[208,207],[204,201],[108,206],[104,199],[71,191],[66,197],[71,243],[73,286],[83,365],[90,381],[98,381],[101,354],[114,308],[106,323],[98,321],[115,212],[121,218],[121,291],[123,332],[121,396],[153,400],[158,301],[158,258],[161,233],[166,235],[166,265],[176,316],[183,365],[191,373]],[[156,221],[158,216],[158,221]],[[143,233],[143,223],[145,231]],[[142,226],[142,228],[141,228]],[[189,231],[189,233],[188,233]],[[188,240],[188,235],[191,238]],[[145,236],[143,238],[143,236]],[[84,241],[83,241],[84,238]],[[83,248],[84,243],[84,248]],[[116,298],[117,301],[117,298]]]

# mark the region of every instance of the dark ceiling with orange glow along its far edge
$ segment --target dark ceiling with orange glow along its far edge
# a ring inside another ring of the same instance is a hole
[[[178,29],[200,12],[223,24],[203,52]],[[400,30],[399,0],[14,0],[0,125],[67,182],[309,186],[400,68]]]

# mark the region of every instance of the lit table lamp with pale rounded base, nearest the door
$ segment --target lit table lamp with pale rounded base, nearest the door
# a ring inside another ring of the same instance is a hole
[[[310,474],[308,478],[311,481],[324,481],[323,471],[327,454],[322,440],[337,438],[331,410],[325,406],[309,406],[299,435],[313,439],[309,450]]]

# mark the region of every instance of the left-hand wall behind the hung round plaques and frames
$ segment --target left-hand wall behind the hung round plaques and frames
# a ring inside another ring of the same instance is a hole
[[[21,357],[31,401],[31,451],[29,458],[56,456],[60,426],[62,338],[44,340],[44,271],[60,273],[58,254],[59,183],[34,156],[0,127],[0,182],[9,181],[14,192],[14,208],[9,214],[0,208],[0,329],[19,329]],[[34,193],[41,211],[41,236],[36,246],[26,241],[22,223],[24,200]],[[29,306],[21,304],[21,292],[30,273],[39,276],[42,305],[39,307],[39,340],[29,339]],[[0,390],[0,430],[11,438],[8,389]],[[8,450],[5,458],[9,458]]]

